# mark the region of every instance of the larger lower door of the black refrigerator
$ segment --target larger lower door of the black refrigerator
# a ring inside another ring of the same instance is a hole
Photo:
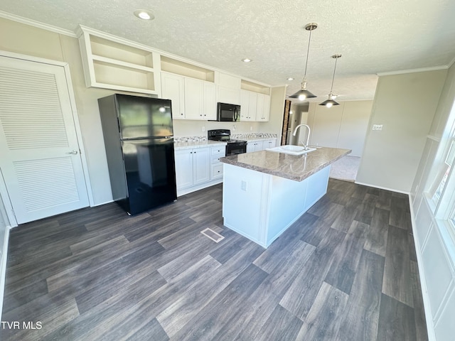
[[[122,150],[127,212],[134,215],[177,199],[173,139],[123,141]]]

